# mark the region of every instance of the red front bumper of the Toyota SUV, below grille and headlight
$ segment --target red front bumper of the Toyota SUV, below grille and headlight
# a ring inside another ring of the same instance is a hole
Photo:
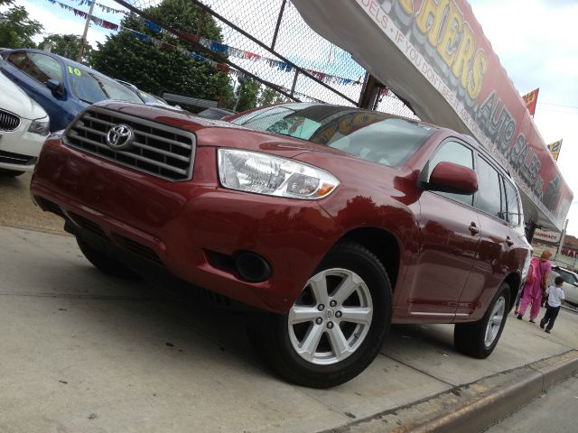
[[[232,299],[276,312],[342,235],[316,202],[219,187],[217,152],[198,147],[191,181],[171,182],[47,140],[31,191],[44,209],[127,254]],[[271,265],[266,281],[244,281],[227,265],[242,252]],[[223,260],[224,259],[224,260]]]

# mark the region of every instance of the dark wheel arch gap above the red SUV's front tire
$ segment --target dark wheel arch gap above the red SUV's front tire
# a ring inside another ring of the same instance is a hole
[[[339,242],[343,241],[356,242],[375,254],[386,268],[391,290],[396,290],[401,258],[401,249],[396,236],[381,228],[359,227],[341,237]]]

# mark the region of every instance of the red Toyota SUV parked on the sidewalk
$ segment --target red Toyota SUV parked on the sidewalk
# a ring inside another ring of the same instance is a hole
[[[453,323],[488,356],[529,264],[515,184],[478,143],[352,107],[100,103],[46,141],[32,193],[99,270],[265,310],[256,349],[313,387],[362,372],[390,323]]]

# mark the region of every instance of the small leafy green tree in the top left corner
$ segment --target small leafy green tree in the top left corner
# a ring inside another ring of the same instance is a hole
[[[11,7],[0,12],[0,47],[34,48],[33,36],[43,28],[41,23],[30,19],[23,6]]]

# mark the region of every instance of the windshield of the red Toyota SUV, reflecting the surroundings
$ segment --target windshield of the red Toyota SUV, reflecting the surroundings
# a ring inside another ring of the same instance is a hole
[[[269,106],[231,122],[323,144],[388,167],[409,160],[433,129],[385,113],[321,104]]]

